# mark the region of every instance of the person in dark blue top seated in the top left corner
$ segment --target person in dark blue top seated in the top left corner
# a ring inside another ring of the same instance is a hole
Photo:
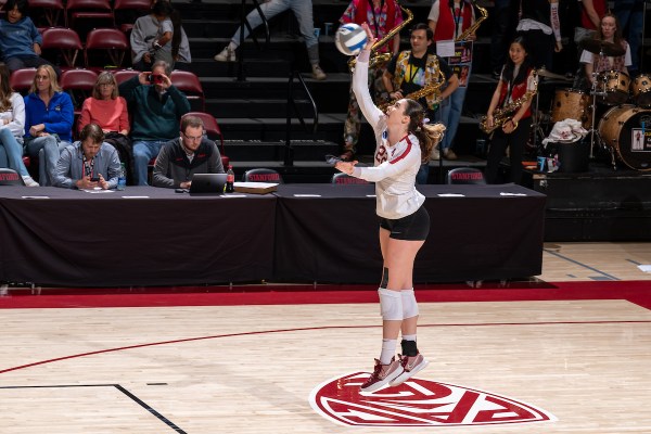
[[[10,72],[40,65],[52,65],[40,56],[43,38],[27,16],[27,0],[8,0],[5,16],[0,20],[0,51]],[[54,67],[56,76],[61,71]]]

